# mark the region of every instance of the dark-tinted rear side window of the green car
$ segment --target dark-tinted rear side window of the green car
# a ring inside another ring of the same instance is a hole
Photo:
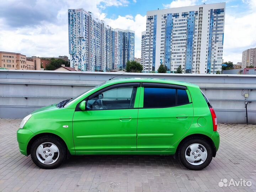
[[[186,90],[144,87],[144,108],[173,107],[187,103],[189,103],[189,100]]]

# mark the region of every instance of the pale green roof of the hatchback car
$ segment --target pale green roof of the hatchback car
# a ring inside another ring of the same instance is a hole
[[[189,82],[182,82],[176,80],[169,80],[169,79],[156,79],[156,78],[122,78],[122,79],[113,79],[108,80],[106,84],[113,85],[118,83],[126,83],[126,82],[155,82],[155,83],[165,83],[165,84],[172,84],[172,85],[183,85],[188,87],[198,87],[197,85],[191,84]]]

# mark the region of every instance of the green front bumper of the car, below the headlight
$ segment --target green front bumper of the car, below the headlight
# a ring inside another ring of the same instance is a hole
[[[27,145],[28,142],[34,137],[35,134],[28,129],[18,129],[17,130],[17,141],[20,148],[20,152],[27,156]]]

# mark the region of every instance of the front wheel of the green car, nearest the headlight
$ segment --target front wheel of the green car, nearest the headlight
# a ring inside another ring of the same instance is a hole
[[[45,135],[37,138],[31,145],[31,159],[42,169],[55,169],[67,156],[65,143],[58,137]]]

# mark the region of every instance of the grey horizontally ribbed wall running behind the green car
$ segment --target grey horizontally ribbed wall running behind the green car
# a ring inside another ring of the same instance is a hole
[[[200,86],[212,103],[219,123],[245,123],[245,97],[249,123],[256,124],[256,76],[212,74],[104,73],[80,71],[0,70],[0,118],[23,118],[32,111],[117,78],[160,78]]]

